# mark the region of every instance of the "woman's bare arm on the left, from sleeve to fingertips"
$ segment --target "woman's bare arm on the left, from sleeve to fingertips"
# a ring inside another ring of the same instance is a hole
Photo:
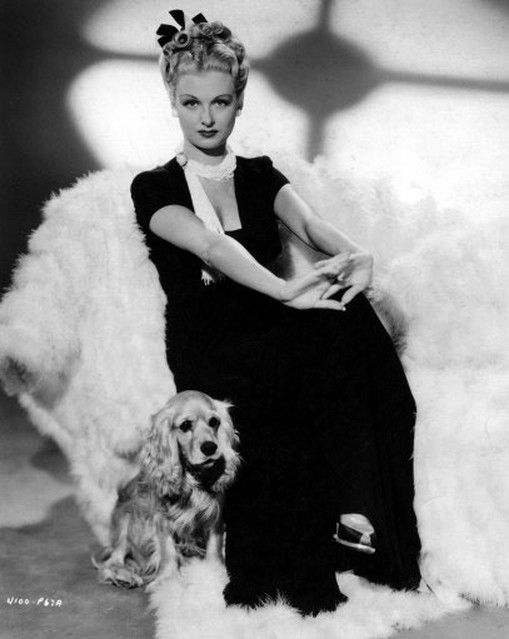
[[[333,300],[322,300],[329,280],[338,274],[336,264],[325,264],[298,280],[287,282],[262,266],[236,240],[209,231],[184,206],[172,204],[154,213],[150,230],[175,246],[190,251],[205,264],[221,271],[235,282],[297,308],[334,308]]]

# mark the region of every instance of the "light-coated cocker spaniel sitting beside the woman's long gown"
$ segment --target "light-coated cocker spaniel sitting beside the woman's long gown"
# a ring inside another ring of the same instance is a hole
[[[186,557],[221,555],[222,496],[240,462],[230,407],[184,391],[153,417],[141,470],[119,492],[112,546],[92,559],[101,583],[142,586]]]

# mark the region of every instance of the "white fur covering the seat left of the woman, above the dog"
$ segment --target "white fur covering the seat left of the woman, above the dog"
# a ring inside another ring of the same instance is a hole
[[[103,545],[150,417],[175,392],[166,300],[129,197],[134,174],[96,173],[53,196],[0,304],[0,376],[66,454]]]

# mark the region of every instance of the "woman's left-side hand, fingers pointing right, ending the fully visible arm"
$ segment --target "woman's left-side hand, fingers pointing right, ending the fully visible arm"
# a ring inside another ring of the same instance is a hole
[[[281,288],[280,299],[286,306],[297,309],[328,308],[345,310],[341,302],[329,300],[325,294],[334,285],[347,264],[346,258],[324,260],[321,266],[301,277],[285,282]]]

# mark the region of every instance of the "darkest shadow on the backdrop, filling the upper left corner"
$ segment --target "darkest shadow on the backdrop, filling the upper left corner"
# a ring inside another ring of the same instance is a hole
[[[100,58],[80,35],[105,0],[3,0],[0,287],[54,190],[99,168],[66,106],[72,80]]]

